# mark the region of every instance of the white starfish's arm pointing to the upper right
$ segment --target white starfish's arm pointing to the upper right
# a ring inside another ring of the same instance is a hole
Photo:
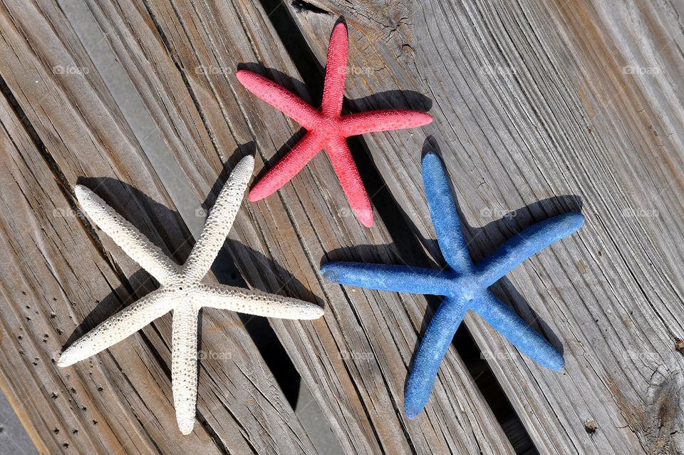
[[[199,282],[212,267],[214,258],[233,225],[242,203],[244,190],[247,189],[247,183],[252,178],[252,170],[254,170],[254,157],[247,155],[230,173],[227,183],[209,213],[202,234],[199,235],[197,243],[192,247],[190,256],[183,266],[182,274],[185,282]]]

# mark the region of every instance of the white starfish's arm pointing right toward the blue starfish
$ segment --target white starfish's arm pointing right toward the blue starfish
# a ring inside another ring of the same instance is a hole
[[[248,315],[281,319],[318,319],[323,308],[304,300],[225,285],[198,285],[197,304]]]

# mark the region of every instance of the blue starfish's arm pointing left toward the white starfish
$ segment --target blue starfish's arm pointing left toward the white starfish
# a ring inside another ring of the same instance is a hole
[[[440,295],[442,290],[446,293],[450,280],[440,270],[365,262],[328,262],[321,267],[321,274],[342,285],[432,295]]]

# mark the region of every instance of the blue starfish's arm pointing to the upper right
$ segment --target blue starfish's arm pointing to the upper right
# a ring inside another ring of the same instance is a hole
[[[475,265],[475,273],[480,276],[483,284],[489,287],[528,257],[572,234],[582,224],[584,215],[570,212],[527,227],[478,262]]]

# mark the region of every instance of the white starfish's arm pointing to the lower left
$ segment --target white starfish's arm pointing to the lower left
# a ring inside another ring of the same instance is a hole
[[[150,324],[172,308],[170,292],[156,290],[133,305],[124,308],[83,335],[62,353],[58,367],[68,367],[113,346],[129,335]]]

